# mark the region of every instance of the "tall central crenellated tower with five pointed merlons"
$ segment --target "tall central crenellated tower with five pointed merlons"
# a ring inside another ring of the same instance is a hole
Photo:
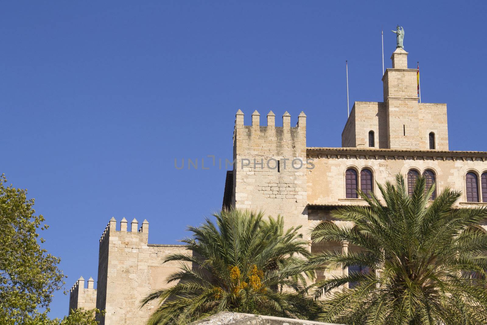
[[[269,112],[267,126],[260,115],[252,114],[252,125],[244,125],[244,114],[236,115],[234,132],[234,206],[264,210],[274,217],[281,214],[286,227],[307,224],[306,211],[306,115],[298,116],[291,127],[291,116],[282,116],[282,127],[275,126]],[[307,236],[306,234],[304,234]]]

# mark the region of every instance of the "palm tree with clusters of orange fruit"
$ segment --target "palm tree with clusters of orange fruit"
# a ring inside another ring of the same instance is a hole
[[[188,227],[182,240],[192,254],[171,254],[181,269],[168,278],[174,286],[150,293],[160,305],[148,324],[187,324],[220,311],[306,317],[313,304],[305,297],[308,243],[298,228],[284,231],[282,217],[262,212],[223,210],[200,227]]]

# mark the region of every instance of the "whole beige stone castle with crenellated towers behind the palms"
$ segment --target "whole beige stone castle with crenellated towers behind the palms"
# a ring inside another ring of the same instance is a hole
[[[223,206],[281,214],[287,227],[304,230],[320,222],[340,224],[330,210],[364,205],[357,189],[377,193],[375,182],[392,181],[397,173],[405,176],[409,187],[422,174],[429,186],[437,184],[437,192],[446,187],[461,190],[459,208],[487,205],[487,152],[449,151],[447,105],[418,102],[417,69],[408,69],[407,56],[400,48],[393,52],[393,67],[382,77],[383,102],[355,102],[340,148],[306,147],[304,113],[292,127],[287,112],[282,126],[276,126],[271,111],[262,126],[255,111],[252,125],[247,126],[239,110],[233,134],[234,168],[226,174]],[[131,231],[125,219],[119,227],[116,230],[112,218],[100,239],[97,289],[93,280],[84,288],[80,278],[71,290],[70,309],[106,310],[101,319],[105,325],[144,324],[154,306],[139,309],[140,299],[167,286],[164,279],[177,268],[161,265],[162,258],[172,252],[191,252],[177,245],[148,244],[147,221],[138,231],[136,220]],[[487,229],[487,225],[479,227]],[[317,245],[307,239],[312,251],[357,249],[340,242]],[[348,270],[318,276],[341,272]]]

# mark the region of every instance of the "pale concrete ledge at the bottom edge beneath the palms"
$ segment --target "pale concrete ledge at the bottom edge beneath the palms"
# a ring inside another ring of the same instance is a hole
[[[200,321],[190,323],[191,325],[244,325],[244,324],[268,324],[268,325],[339,325],[291,319],[283,317],[262,316],[253,314],[234,313],[229,311],[220,312]]]

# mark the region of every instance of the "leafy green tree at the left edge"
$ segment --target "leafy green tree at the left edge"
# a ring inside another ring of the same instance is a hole
[[[60,259],[41,249],[37,229],[44,221],[35,215],[27,191],[5,187],[0,177],[0,324],[51,324],[47,317],[53,293],[63,285]],[[40,310],[40,311],[39,311]]]

